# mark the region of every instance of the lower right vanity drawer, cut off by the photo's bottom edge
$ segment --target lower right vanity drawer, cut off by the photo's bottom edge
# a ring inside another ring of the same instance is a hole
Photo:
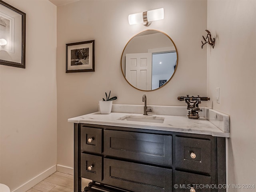
[[[175,192],[211,192],[211,177],[198,175],[193,173],[186,173],[175,171]],[[178,186],[178,188],[176,187]],[[191,190],[191,187],[194,190]],[[213,191],[216,191],[213,189]]]

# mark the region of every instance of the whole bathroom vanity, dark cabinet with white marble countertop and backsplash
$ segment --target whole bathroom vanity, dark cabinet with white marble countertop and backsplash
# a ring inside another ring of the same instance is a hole
[[[185,107],[113,105],[68,119],[74,123],[74,191],[226,191],[229,116],[203,108],[199,120]],[[178,116],[174,116],[178,114]],[[214,125],[215,124],[215,125]]]

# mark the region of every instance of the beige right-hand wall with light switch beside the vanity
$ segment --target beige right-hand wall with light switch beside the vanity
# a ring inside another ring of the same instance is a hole
[[[228,184],[256,185],[256,1],[208,0],[208,29],[208,96],[220,87],[208,106],[230,115]]]

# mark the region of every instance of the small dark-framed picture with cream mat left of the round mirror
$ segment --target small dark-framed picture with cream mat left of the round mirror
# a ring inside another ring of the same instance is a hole
[[[95,40],[66,44],[66,73],[95,71]]]

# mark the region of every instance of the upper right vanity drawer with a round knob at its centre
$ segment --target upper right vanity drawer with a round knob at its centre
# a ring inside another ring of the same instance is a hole
[[[176,167],[211,172],[211,141],[176,137]]]

